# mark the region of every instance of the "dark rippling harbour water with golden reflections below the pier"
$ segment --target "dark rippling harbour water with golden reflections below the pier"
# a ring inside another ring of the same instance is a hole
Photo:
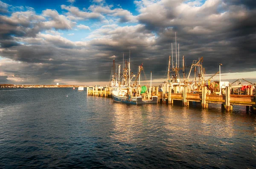
[[[256,114],[0,89],[0,168],[256,168]]]

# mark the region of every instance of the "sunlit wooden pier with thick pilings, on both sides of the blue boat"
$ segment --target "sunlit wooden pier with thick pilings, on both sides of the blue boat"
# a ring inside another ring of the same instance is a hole
[[[87,87],[87,95],[111,97],[109,87],[98,89],[98,87]],[[203,108],[208,108],[209,103],[221,104],[221,107],[227,111],[233,110],[233,105],[246,106],[246,110],[256,112],[256,95],[252,90],[247,95],[230,94],[230,87],[226,87],[224,95],[216,95],[207,93],[207,87],[202,87],[200,93],[189,93],[185,87],[183,93],[172,93],[172,87],[168,92],[159,92],[158,87],[153,87],[152,96],[158,96],[158,103],[173,104],[174,100],[182,101],[183,106],[189,106],[190,101],[201,102]]]

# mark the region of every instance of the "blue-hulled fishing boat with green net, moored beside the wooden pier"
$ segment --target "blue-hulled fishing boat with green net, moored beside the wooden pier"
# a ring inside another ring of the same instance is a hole
[[[137,73],[134,82],[132,85],[131,82],[131,73],[130,73],[130,62],[128,62],[128,69],[125,64],[125,68],[123,68],[122,73],[122,82],[120,81],[120,67],[118,66],[118,75],[114,72],[115,68],[115,60],[113,60],[113,74],[111,79],[111,96],[113,98],[113,101],[120,102],[120,103],[126,103],[126,104],[156,104],[157,103],[157,96],[151,95],[152,87],[147,86],[140,86],[137,85],[137,79],[140,77],[140,73],[143,70],[143,64],[139,66],[139,71]],[[128,75],[127,75],[128,74]],[[128,80],[128,84],[127,84]]]

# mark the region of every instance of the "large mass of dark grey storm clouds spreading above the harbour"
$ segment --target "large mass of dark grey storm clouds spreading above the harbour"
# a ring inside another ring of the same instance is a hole
[[[165,0],[150,5],[140,1],[137,17],[120,9],[94,7],[91,10],[95,12],[89,14],[78,8],[62,6],[73,16],[84,19],[100,18],[103,16],[100,12],[104,12],[116,14],[119,22],[140,22],[132,26],[104,25],[91,31],[86,37],[90,40],[86,42],[41,33],[52,28],[73,27],[74,23],[55,10],[45,10],[42,16],[35,16],[33,12],[19,13],[18,20],[18,13],[11,17],[2,16],[0,56],[18,64],[5,62],[7,65],[1,68],[7,76],[3,73],[0,78],[8,77],[12,82],[22,79],[28,84],[54,84],[56,79],[108,81],[113,59],[116,65],[122,65],[123,53],[128,61],[131,50],[132,71],[137,72],[138,65],[143,62],[146,75],[152,71],[155,78],[161,79],[166,73],[169,55],[172,56],[171,43],[175,58],[175,32],[180,44],[180,67],[184,55],[186,71],[193,60],[201,56],[206,73],[216,73],[219,63],[223,64],[221,70],[226,73],[256,71],[256,10],[249,8],[253,3],[207,0],[205,4],[193,5],[184,2]],[[35,22],[22,20],[22,16]],[[16,69],[9,69],[15,66]]]

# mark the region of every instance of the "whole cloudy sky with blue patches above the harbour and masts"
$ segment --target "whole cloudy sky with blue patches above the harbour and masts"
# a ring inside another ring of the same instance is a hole
[[[255,83],[255,16],[256,0],[2,0],[0,84],[108,85],[130,56],[160,85],[172,50],[187,73],[203,57],[206,77],[221,63],[221,80]]]

